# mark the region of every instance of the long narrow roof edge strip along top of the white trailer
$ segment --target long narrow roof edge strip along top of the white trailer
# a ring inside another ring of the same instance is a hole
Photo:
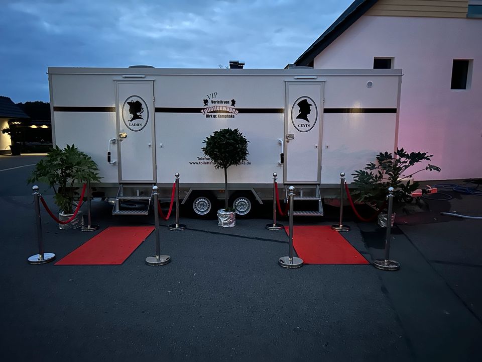
[[[103,75],[402,75],[401,69],[192,69],[192,68],[77,68],[49,67],[48,74]]]

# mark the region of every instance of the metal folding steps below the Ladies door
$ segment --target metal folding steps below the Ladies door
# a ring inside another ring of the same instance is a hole
[[[151,207],[152,185],[119,186],[112,215],[147,215]]]

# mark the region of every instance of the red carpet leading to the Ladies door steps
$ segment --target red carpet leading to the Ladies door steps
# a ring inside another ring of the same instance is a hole
[[[108,227],[55,265],[122,264],[153,230],[153,226]]]

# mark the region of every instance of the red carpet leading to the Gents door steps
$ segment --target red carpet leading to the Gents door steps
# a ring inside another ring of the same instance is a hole
[[[288,234],[288,226],[285,226],[285,230]],[[369,263],[330,226],[294,226],[293,246],[305,264]]]

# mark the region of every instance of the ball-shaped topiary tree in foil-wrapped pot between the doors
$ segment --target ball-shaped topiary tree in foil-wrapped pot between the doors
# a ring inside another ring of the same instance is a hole
[[[232,227],[236,224],[235,210],[229,208],[227,188],[227,168],[236,166],[247,161],[249,141],[237,128],[224,128],[214,131],[212,135],[202,141],[206,145],[202,147],[204,154],[211,158],[214,167],[224,169],[224,209],[217,212],[218,225]]]

